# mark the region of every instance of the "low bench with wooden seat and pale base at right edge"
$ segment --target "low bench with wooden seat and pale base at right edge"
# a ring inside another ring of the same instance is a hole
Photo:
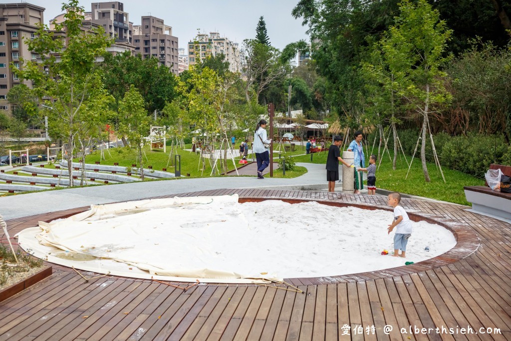
[[[511,166],[490,165],[490,169],[500,169],[504,175],[511,176]],[[486,186],[465,186],[465,196],[472,202],[472,211],[485,215],[511,220],[511,193],[502,193]]]

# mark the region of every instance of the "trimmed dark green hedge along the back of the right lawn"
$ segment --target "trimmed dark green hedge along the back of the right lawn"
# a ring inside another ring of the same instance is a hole
[[[399,139],[407,155],[413,155],[419,130],[398,130]],[[373,146],[375,133],[368,135],[369,149]],[[426,160],[434,162],[429,135],[426,136]],[[467,133],[467,135],[451,136],[438,133],[433,136],[436,154],[440,165],[480,178],[490,167],[490,164],[511,165],[511,146],[506,143],[502,135],[483,135]],[[390,152],[393,150],[392,133],[388,140]],[[382,150],[383,150],[382,143]],[[377,153],[378,141],[374,153]],[[421,156],[421,144],[417,146],[415,157]]]

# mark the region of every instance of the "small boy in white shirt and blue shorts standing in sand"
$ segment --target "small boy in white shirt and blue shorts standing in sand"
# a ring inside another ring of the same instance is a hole
[[[412,233],[412,224],[405,209],[399,206],[400,201],[401,194],[398,192],[392,192],[388,195],[388,204],[394,208],[394,221],[388,225],[388,233],[390,234],[390,232],[398,226],[396,235],[394,235],[393,256],[405,258],[406,244]],[[401,250],[401,255],[399,254],[399,250]]]

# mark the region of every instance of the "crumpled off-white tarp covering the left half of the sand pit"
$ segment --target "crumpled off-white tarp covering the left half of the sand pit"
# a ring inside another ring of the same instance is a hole
[[[250,272],[233,272],[240,255],[229,254],[222,243],[234,238],[238,246],[247,246],[250,241],[243,236],[247,229],[249,222],[238,196],[233,195],[92,205],[89,211],[66,219],[39,222],[38,228],[17,236],[19,245],[36,257],[83,270],[105,273],[110,266],[106,263],[117,261],[127,265],[113,264],[111,275],[252,282],[252,278],[268,277],[257,269],[257,255],[248,256],[254,258]],[[204,262],[219,257],[225,258],[224,268],[211,269]],[[147,276],[142,276],[144,271]]]

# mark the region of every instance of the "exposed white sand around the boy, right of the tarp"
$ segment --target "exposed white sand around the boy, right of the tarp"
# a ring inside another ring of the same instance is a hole
[[[338,208],[317,202],[289,204],[267,200],[242,204],[256,235],[264,234],[260,265],[274,268],[284,278],[353,274],[420,262],[441,255],[456,245],[443,226],[411,222],[413,233],[407,257],[392,257],[394,232],[387,233],[392,212]],[[429,246],[430,251],[424,250]],[[383,249],[389,255],[382,256]]]

